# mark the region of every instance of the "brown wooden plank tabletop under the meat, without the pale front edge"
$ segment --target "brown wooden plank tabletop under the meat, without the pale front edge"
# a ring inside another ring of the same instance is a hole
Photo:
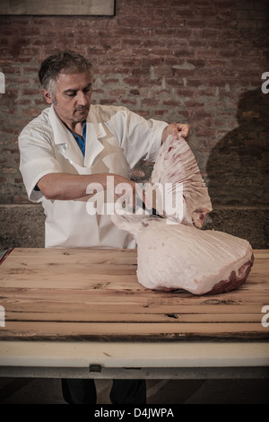
[[[148,290],[135,271],[135,250],[14,249],[0,266],[0,340],[269,339],[269,251],[221,295]]]

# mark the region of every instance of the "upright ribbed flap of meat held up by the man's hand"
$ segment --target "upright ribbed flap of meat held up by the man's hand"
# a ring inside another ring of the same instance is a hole
[[[146,193],[154,186],[162,192],[156,198],[156,209],[172,221],[200,228],[205,215],[212,211],[195,155],[183,136],[169,136],[161,145]],[[147,202],[146,206],[150,207]]]

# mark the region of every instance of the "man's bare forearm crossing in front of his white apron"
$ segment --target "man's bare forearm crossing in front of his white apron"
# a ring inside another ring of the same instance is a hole
[[[39,180],[38,188],[47,199],[78,199],[83,198],[88,194],[87,188],[90,184],[99,183],[102,189],[107,189],[108,176],[114,176],[117,179],[117,182],[126,180],[121,176],[109,173],[90,175],[50,173]]]

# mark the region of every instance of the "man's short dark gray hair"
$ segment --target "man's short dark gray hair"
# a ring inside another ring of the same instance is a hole
[[[71,50],[61,51],[46,58],[39,68],[41,88],[51,94],[56,90],[56,79],[60,73],[65,75],[88,71],[92,75],[91,63],[78,53]]]

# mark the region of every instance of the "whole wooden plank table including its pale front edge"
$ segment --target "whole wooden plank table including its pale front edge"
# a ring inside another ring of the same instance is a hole
[[[14,249],[0,266],[0,375],[267,377],[268,258],[255,251],[239,289],[198,296],[145,289],[135,250]]]

